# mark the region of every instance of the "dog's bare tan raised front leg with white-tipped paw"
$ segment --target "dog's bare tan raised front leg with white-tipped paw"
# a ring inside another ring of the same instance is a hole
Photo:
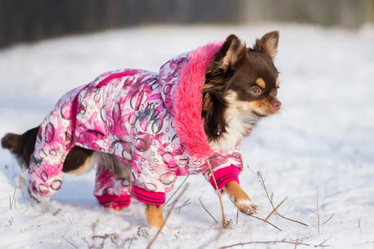
[[[246,215],[253,215],[257,212],[258,206],[252,204],[248,195],[240,188],[239,184],[235,181],[228,182],[223,191],[228,194],[231,200],[238,207],[239,211]]]

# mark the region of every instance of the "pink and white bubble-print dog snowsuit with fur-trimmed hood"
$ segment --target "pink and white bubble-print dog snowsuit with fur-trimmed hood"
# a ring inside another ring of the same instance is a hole
[[[200,89],[221,45],[181,54],[159,73],[104,73],[65,94],[39,128],[28,171],[32,196],[46,201],[58,191],[74,146],[115,154],[131,165],[130,182],[98,165],[94,195],[105,207],[128,207],[130,196],[162,205],[179,175],[202,173],[213,185],[207,158],[219,189],[239,182],[239,145],[228,153],[214,151],[201,118]]]

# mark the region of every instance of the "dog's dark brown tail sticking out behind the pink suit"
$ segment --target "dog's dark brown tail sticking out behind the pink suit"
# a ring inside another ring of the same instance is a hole
[[[6,133],[1,138],[1,147],[10,150],[16,156],[19,165],[28,168],[30,157],[35,148],[36,136],[39,126],[29,129],[21,135]]]

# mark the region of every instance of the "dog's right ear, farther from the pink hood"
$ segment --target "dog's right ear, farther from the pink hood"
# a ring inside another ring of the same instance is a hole
[[[270,56],[274,61],[277,55],[279,42],[279,31],[271,31],[264,34],[261,39],[256,39],[253,50]]]

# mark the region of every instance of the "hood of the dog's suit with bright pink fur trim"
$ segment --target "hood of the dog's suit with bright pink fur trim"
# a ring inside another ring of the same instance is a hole
[[[207,66],[223,42],[213,42],[181,54],[160,69],[161,96],[174,117],[173,124],[186,152],[205,160],[217,153],[208,143],[201,118],[202,93]]]

